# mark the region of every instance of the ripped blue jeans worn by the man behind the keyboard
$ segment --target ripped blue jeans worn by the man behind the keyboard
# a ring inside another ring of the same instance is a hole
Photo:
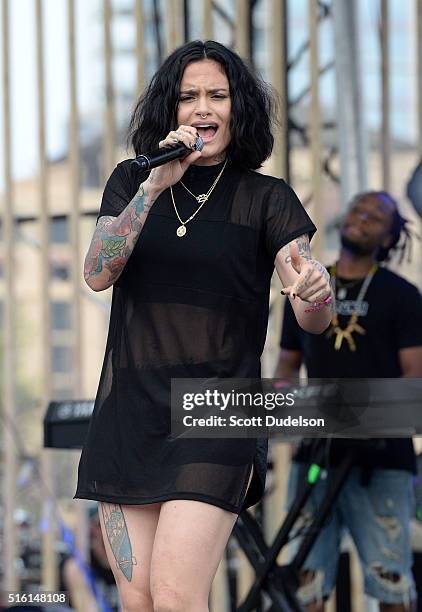
[[[307,466],[293,462],[289,477],[288,504],[305,479]],[[321,479],[309,498],[300,528],[312,518],[330,482]],[[412,475],[404,470],[374,469],[368,486],[360,482],[361,470],[353,468],[340,491],[325,527],[319,534],[304,570],[314,579],[298,591],[302,604],[328,598],[336,581],[342,532],[347,529],[356,545],[365,579],[365,593],[380,602],[404,603],[416,599],[411,572],[410,521],[414,516]],[[289,545],[295,554],[300,538]]]

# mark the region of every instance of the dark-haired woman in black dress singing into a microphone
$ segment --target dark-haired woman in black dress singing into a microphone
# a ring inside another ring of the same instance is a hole
[[[123,161],[105,187],[84,273],[113,300],[75,497],[102,502],[125,612],[206,612],[237,515],[264,489],[266,440],[171,438],[171,378],[260,376],[274,266],[303,329],[331,319],[313,223],[284,181],[255,172],[272,114],[233,51],[188,43],[140,98],[130,141],[136,155],[192,152],[148,177]]]

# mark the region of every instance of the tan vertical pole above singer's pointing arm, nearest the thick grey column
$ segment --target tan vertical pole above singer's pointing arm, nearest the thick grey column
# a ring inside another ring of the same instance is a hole
[[[308,0],[309,7],[309,54],[311,102],[309,118],[309,140],[312,158],[312,200],[313,213],[319,232],[312,241],[312,253],[316,259],[322,256],[324,235],[323,211],[321,210],[321,110],[319,105],[319,45],[318,45],[318,4]]]

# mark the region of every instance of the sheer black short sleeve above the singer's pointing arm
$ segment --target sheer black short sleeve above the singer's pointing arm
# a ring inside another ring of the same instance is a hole
[[[268,254],[274,260],[283,246],[303,234],[308,234],[311,240],[315,232],[315,225],[293,189],[285,181],[277,181],[266,208],[265,240]]]

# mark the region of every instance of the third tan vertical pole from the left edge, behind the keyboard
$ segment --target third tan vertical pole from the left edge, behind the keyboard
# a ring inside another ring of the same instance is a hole
[[[76,399],[82,397],[81,366],[83,363],[81,334],[81,277],[82,260],[80,244],[80,153],[79,153],[79,112],[76,71],[76,31],[75,31],[75,0],[68,0],[69,24],[69,86],[70,86],[70,121],[69,121],[69,165],[70,165],[70,248],[72,252],[72,313],[73,313],[73,392]],[[75,466],[76,467],[76,466]],[[77,546],[85,558],[88,553],[88,521],[84,506],[76,505],[78,529],[76,532]]]

